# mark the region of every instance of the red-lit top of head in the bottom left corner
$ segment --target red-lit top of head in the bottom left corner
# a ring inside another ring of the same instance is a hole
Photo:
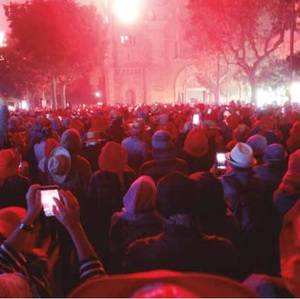
[[[1,298],[33,298],[33,291],[24,276],[17,273],[0,275]]]

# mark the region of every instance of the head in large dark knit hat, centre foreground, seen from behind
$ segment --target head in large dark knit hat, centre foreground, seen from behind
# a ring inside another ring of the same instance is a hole
[[[180,172],[161,178],[157,186],[157,210],[164,218],[192,215],[195,208],[194,182]]]

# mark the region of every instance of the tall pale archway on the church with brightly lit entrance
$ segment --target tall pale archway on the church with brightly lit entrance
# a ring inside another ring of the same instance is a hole
[[[179,103],[210,103],[212,95],[209,89],[200,82],[198,67],[189,65],[179,72],[175,82],[175,96]]]

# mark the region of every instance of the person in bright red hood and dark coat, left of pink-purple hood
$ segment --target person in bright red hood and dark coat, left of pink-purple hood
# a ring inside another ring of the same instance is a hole
[[[135,179],[122,146],[110,141],[102,148],[99,170],[93,174],[85,206],[88,233],[96,251],[108,263],[111,216],[122,209],[122,198]]]

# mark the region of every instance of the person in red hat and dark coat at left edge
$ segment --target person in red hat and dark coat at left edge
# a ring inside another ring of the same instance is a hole
[[[30,182],[19,174],[20,162],[15,149],[0,151],[0,208],[26,207],[25,195]]]

